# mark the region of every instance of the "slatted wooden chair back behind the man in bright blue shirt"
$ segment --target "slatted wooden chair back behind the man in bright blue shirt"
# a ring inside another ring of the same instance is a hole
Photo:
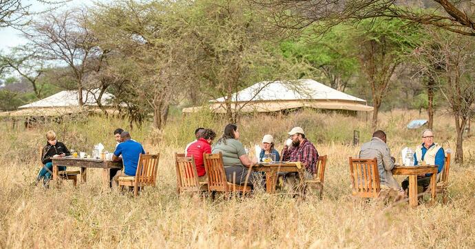
[[[155,186],[159,158],[160,154],[140,154],[135,175],[136,186]]]

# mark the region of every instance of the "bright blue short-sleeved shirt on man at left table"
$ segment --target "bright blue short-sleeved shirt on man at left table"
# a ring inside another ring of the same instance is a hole
[[[140,153],[145,154],[145,150],[143,150],[140,143],[137,143],[134,140],[129,139],[117,145],[114,155],[122,155],[124,172],[127,176],[135,176]]]

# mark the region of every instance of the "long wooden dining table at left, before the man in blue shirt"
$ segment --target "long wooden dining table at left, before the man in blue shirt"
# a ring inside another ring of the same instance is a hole
[[[79,167],[81,169],[81,182],[87,180],[87,168],[103,169],[103,187],[109,189],[110,169],[122,169],[122,161],[113,162],[110,160],[94,159],[94,158],[75,158],[75,157],[56,157],[52,158],[53,164],[53,180],[58,180],[58,166]]]

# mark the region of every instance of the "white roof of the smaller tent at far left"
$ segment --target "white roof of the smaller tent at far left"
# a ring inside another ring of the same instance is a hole
[[[99,97],[101,91],[96,88],[92,90],[83,91],[83,102],[85,106],[97,106],[96,98]],[[101,103],[107,106],[107,101],[112,99],[114,95],[105,92],[101,98]],[[78,91],[61,91],[50,97],[45,97],[36,102],[19,106],[19,108],[45,108],[45,107],[67,107],[67,106],[79,106],[78,104]]]

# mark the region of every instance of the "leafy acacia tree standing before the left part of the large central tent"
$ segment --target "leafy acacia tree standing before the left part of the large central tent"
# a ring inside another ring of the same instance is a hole
[[[213,99],[224,97],[223,107],[230,122],[237,122],[240,110],[249,102],[237,103],[233,95],[242,88],[268,80],[254,93],[288,73],[288,64],[266,36],[262,16],[245,1],[193,1],[183,14],[187,23],[183,43],[190,51],[188,66],[200,92]],[[196,85],[193,86],[196,88]]]

